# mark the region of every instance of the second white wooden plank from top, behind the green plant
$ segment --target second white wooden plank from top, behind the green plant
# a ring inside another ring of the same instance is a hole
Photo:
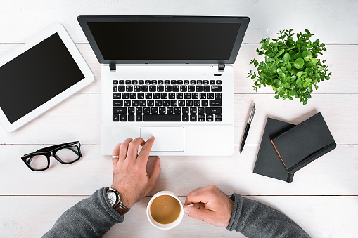
[[[19,44],[0,44],[0,55],[5,55],[11,52]],[[79,93],[100,93],[101,92],[101,65],[98,63],[96,55],[89,44],[77,44],[77,48],[82,53],[87,64],[94,73],[96,80],[87,88],[82,89]],[[235,93],[271,93],[274,91],[267,86],[257,91],[253,90],[252,79],[246,78],[250,70],[255,71],[255,67],[250,64],[253,58],[259,59],[256,55],[256,48],[260,48],[259,44],[244,44],[241,46],[238,53],[238,58],[234,64],[234,92]],[[261,57],[260,57],[261,58]],[[327,51],[324,52],[324,57],[327,60],[326,65],[328,69],[333,72],[329,81],[319,83],[318,91],[314,91],[312,95],[319,93],[357,93],[358,84],[358,45],[330,45],[327,46]],[[281,99],[280,99],[281,100]]]

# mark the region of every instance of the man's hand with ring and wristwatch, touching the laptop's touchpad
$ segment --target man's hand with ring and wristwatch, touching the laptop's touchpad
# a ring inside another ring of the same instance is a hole
[[[123,143],[116,145],[113,155],[113,185],[112,187],[120,193],[122,204],[130,208],[136,201],[142,199],[157,185],[160,174],[160,159],[153,161],[153,168],[148,176],[146,166],[149,152],[154,143],[151,136],[146,142],[142,138],[128,138]],[[143,146],[138,154],[139,145]]]

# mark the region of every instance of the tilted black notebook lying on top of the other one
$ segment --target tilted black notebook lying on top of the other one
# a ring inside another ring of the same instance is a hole
[[[336,146],[319,112],[271,140],[288,172],[295,173]]]

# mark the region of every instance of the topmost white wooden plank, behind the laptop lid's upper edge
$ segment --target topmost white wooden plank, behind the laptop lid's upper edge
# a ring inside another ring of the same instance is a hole
[[[1,2],[0,42],[23,42],[52,22],[62,23],[75,42],[87,42],[77,15],[247,15],[251,18],[245,43],[258,43],[282,29],[310,29],[326,44],[357,44],[356,1],[56,1],[36,4]],[[20,8],[18,6],[21,6]],[[269,10],[271,9],[271,10]],[[279,14],[278,14],[279,13]],[[302,17],[305,13],[305,17]],[[298,20],[299,19],[299,20]],[[347,23],[349,22],[349,23]]]

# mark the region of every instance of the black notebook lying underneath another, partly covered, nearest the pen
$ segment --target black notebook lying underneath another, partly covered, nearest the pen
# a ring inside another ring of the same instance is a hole
[[[271,138],[280,135],[283,131],[287,131],[293,126],[295,125],[269,117],[267,118],[264,135],[262,135],[260,149],[257,154],[254,173],[283,180],[288,183],[292,182],[293,173],[288,173],[285,166],[283,166],[279,155],[271,144]]]

